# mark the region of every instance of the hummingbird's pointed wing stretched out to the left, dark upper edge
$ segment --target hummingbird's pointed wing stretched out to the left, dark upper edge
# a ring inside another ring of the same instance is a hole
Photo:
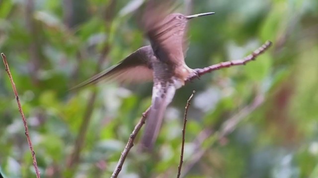
[[[130,54],[119,64],[107,69],[72,89],[79,89],[101,80],[117,80],[118,82],[147,82],[153,80],[152,58],[153,49],[150,45],[143,46]]]

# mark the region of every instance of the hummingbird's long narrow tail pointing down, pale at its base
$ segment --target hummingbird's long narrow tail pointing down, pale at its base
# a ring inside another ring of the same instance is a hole
[[[171,83],[154,84],[152,106],[146,120],[146,128],[141,141],[143,150],[151,150],[157,140],[164,112],[172,101],[176,88]]]

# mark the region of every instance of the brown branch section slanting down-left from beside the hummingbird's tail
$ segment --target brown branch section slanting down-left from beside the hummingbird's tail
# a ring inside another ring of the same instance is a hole
[[[116,166],[113,174],[111,175],[111,178],[117,178],[119,172],[121,171],[121,169],[123,167],[123,164],[125,162],[125,159],[126,159],[128,153],[129,153],[130,149],[134,146],[135,137],[137,136],[137,134],[140,131],[141,127],[145,124],[145,120],[147,118],[149,110],[150,110],[150,107],[143,113],[143,116],[141,117],[141,119],[139,120],[137,125],[135,126],[135,129],[130,134],[128,142],[127,142],[127,144],[125,146],[125,149],[120,155],[119,161],[117,163],[117,166]]]

